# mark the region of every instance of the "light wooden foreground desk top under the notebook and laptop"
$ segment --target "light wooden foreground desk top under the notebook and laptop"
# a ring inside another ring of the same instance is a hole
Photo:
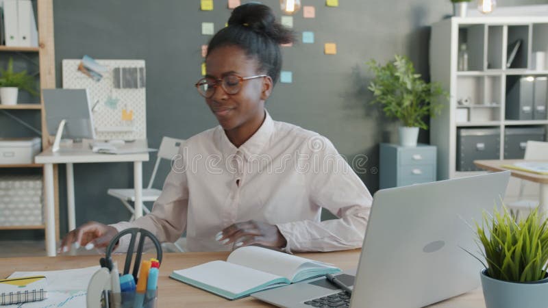
[[[335,264],[343,270],[350,270],[358,266],[360,250],[299,255]],[[226,300],[169,278],[173,270],[197,266],[208,261],[225,260],[227,256],[228,253],[166,253],[158,280],[158,307],[273,307],[251,297]],[[95,266],[99,265],[99,257],[99,255],[82,255],[0,259],[0,277],[7,277],[15,271],[64,270]],[[114,259],[118,261],[118,264],[123,264],[124,257],[125,255],[116,255]],[[150,255],[150,257],[153,256]],[[485,305],[480,289],[429,307],[484,308]]]

